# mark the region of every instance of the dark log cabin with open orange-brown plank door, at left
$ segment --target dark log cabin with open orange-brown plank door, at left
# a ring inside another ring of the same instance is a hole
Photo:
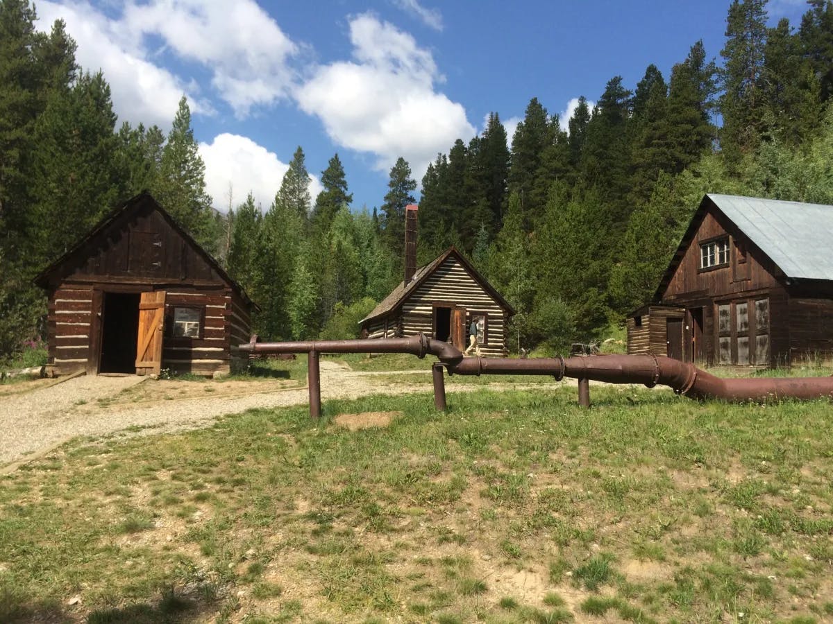
[[[252,301],[147,193],[113,210],[35,280],[52,374],[226,374]]]

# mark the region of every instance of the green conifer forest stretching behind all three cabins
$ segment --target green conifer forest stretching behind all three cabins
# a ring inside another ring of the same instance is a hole
[[[810,0],[796,27],[734,0],[721,50],[695,41],[668,75],[613,75],[566,127],[528,94],[513,136],[494,111],[421,181],[399,158],[372,209],[352,204],[338,154],[313,197],[298,146],[271,206],[249,195],[227,213],[186,98],[167,133],[117,124],[107,77],[78,67],[63,22],[44,33],[35,19],[28,0],[0,0],[0,356],[44,332],[34,276],[143,190],[257,303],[264,339],[356,337],[402,280],[418,198],[417,264],[456,245],[516,309],[512,348],[544,351],[601,339],[650,300],[704,194],[833,204],[831,0]]]

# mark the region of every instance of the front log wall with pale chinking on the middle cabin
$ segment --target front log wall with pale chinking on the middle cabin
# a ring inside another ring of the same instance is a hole
[[[403,334],[423,332],[433,337],[435,303],[466,308],[466,324],[471,313],[486,314],[488,329],[486,343],[480,345],[481,354],[491,357],[506,355],[503,309],[453,256],[438,266],[402,304]]]

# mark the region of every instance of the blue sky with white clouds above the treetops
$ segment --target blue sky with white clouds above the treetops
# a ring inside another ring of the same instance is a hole
[[[566,116],[621,75],[666,78],[702,39],[720,62],[730,0],[144,0],[36,3],[57,18],[85,69],[101,68],[119,121],[167,131],[184,93],[214,205],[252,191],[266,210],[297,146],[313,200],[338,152],[353,208],[380,206],[404,156],[420,181],[438,151],[481,131],[490,111],[507,131],[531,97]],[[802,0],[771,0],[771,22],[797,25]]]

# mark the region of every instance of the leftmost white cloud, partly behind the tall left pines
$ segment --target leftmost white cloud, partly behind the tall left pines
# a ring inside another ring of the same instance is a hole
[[[113,107],[122,121],[169,127],[183,93],[188,93],[192,112],[212,112],[209,103],[194,97],[195,88],[147,61],[141,52],[127,49],[119,24],[89,3],[43,0],[37,3],[37,15],[39,30],[49,31],[58,18],[67,23],[67,32],[78,44],[77,62],[86,71],[104,72]]]

